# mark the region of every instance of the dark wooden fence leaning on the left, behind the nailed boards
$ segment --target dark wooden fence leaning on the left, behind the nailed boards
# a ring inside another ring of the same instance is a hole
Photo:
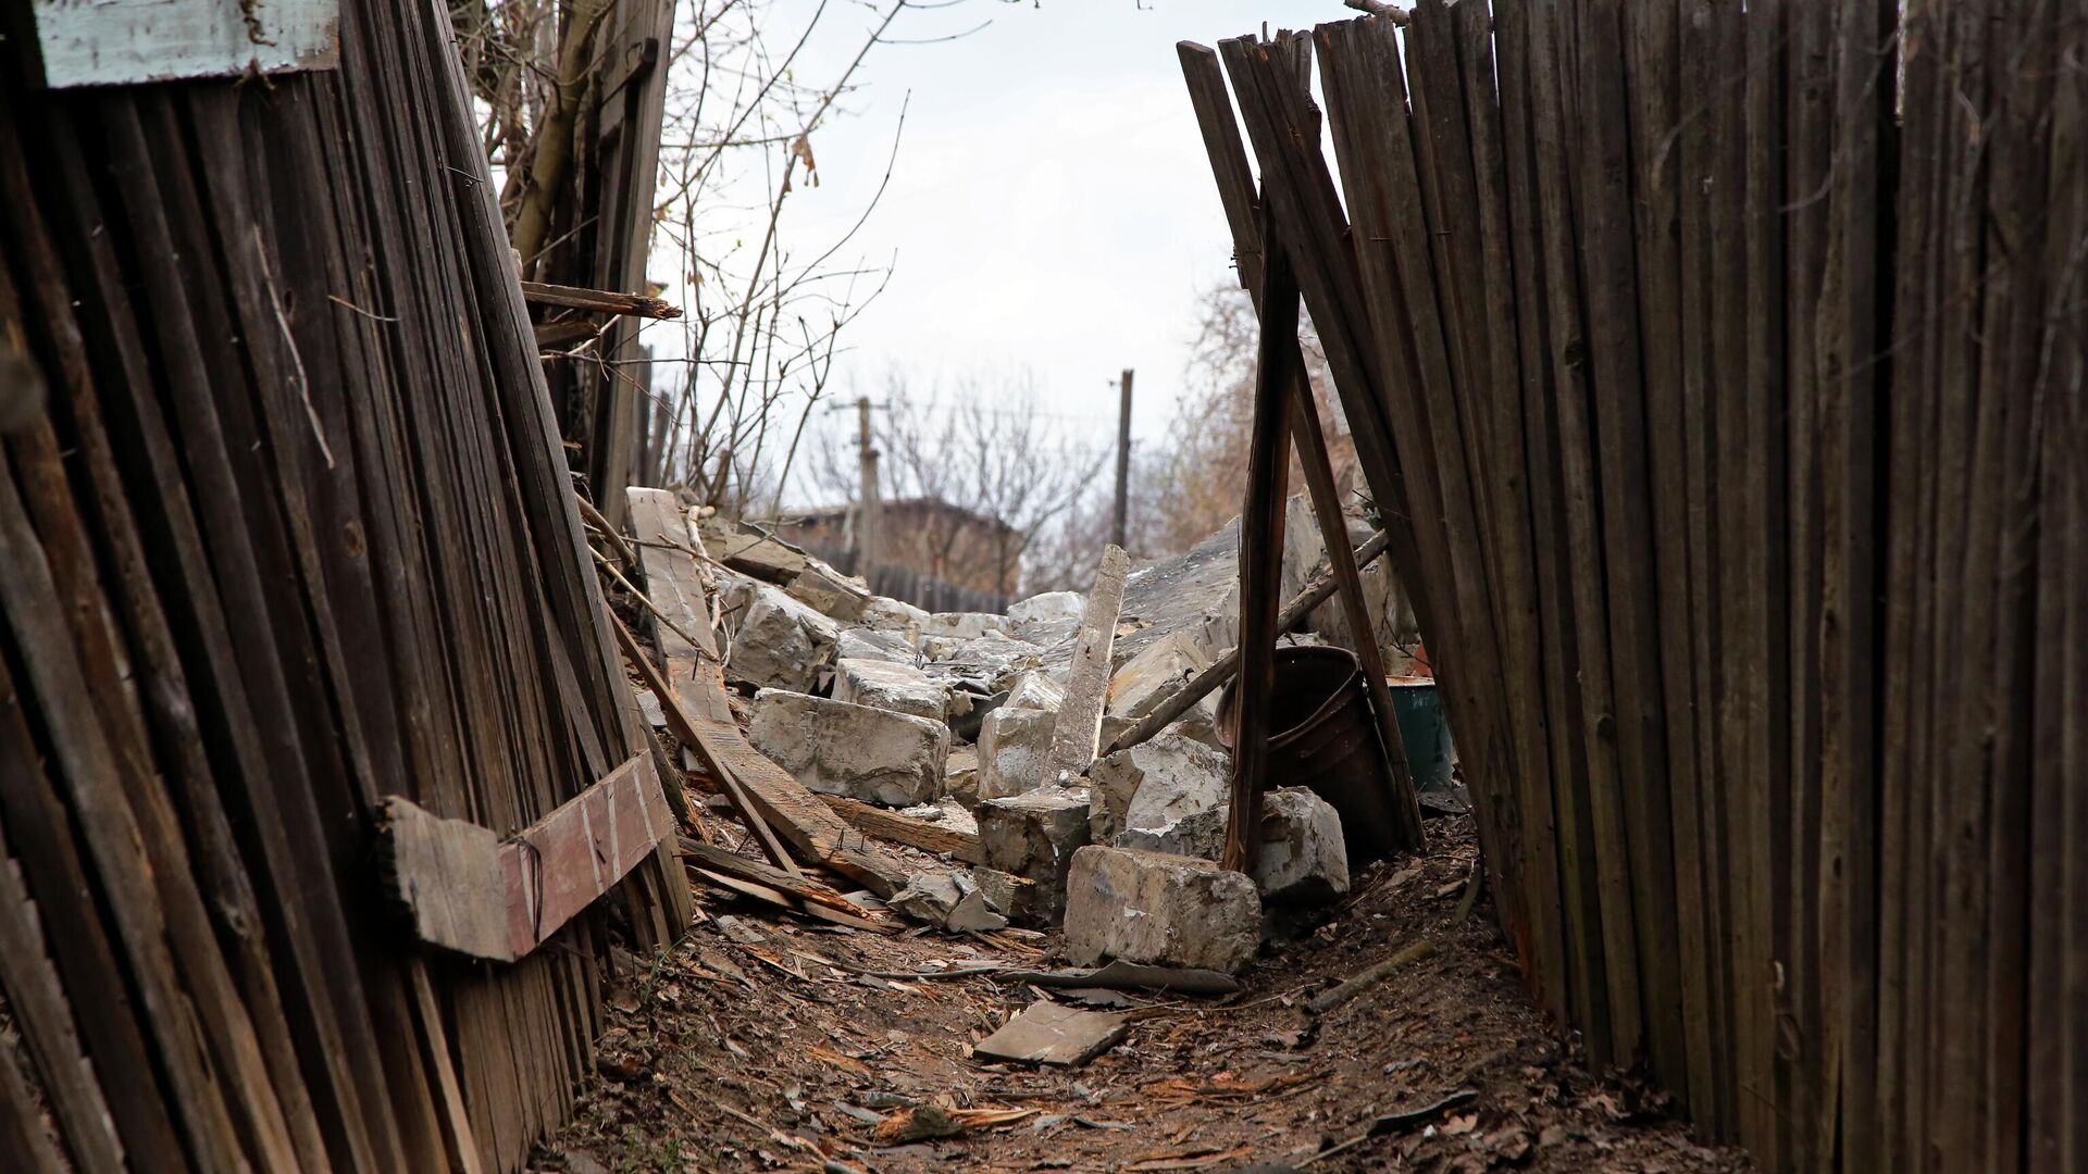
[[[338,71],[0,65],[10,1168],[518,1168],[610,917],[689,915],[664,852],[514,965],[382,907],[384,796],[507,833],[643,733],[445,13],[340,19]]]

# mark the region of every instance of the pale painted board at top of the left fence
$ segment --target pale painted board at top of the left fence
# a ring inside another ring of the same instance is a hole
[[[334,69],[340,0],[31,0],[44,84]]]

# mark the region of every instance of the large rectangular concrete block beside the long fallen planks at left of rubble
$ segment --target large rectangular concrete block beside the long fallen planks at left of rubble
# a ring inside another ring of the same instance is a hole
[[[748,742],[814,792],[885,806],[935,798],[950,754],[940,721],[783,689],[754,696]]]

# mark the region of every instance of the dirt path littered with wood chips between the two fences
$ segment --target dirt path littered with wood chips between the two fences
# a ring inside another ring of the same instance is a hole
[[[1048,938],[848,934],[704,894],[712,921],[612,990],[599,1078],[539,1168],[1743,1170],[1735,1151],[1695,1145],[1658,1103],[1560,1049],[1487,909],[1457,919],[1470,823],[1430,833],[1426,859],[1372,867],[1345,907],[1263,948],[1240,994],[1136,999],[1125,1040],[1075,1072],[969,1055],[1044,992],[988,978],[892,982],[821,961],[1036,967],[1050,961]],[[1324,1017],[1303,1011],[1422,938],[1432,957]],[[1313,1161],[1380,1113],[1466,1088],[1476,1097],[1428,1124]],[[975,1124],[881,1141],[912,1105],[975,1109]]]

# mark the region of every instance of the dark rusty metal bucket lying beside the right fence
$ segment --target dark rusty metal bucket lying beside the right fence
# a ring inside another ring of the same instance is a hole
[[[1217,700],[1217,731],[1228,748],[1234,683]],[[1355,654],[1328,645],[1278,648],[1272,702],[1270,785],[1309,788],[1340,815],[1349,867],[1391,856],[1389,767]]]

